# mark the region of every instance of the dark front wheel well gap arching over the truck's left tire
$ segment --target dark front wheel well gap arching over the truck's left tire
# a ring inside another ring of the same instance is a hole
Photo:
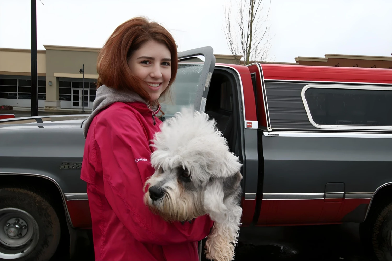
[[[0,175],[1,185],[0,187],[18,187],[28,190],[33,190],[33,192],[41,194],[46,200],[52,205],[58,219],[60,221],[61,234],[63,242],[69,242],[69,229],[68,221],[65,212],[64,201],[62,198],[61,191],[58,189],[57,185],[47,179],[36,176],[25,176],[25,175]],[[60,241],[61,243],[61,241]]]

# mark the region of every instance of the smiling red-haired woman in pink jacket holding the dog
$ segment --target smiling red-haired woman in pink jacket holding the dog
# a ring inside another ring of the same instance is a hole
[[[198,260],[208,216],[168,223],[143,203],[154,173],[149,140],[160,130],[157,102],[178,68],[174,39],[161,25],[133,18],[118,26],[98,55],[93,113],[86,120],[81,178],[93,221],[96,260]]]

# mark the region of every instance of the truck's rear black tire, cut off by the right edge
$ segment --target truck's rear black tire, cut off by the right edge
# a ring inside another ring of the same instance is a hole
[[[380,204],[360,226],[361,240],[377,260],[392,260],[392,202]]]

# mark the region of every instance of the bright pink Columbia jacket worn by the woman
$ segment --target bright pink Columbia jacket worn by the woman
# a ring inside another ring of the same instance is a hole
[[[210,232],[208,216],[167,223],[143,203],[154,173],[149,140],[162,123],[155,114],[142,102],[114,102],[89,121],[81,178],[96,260],[198,260],[197,241]]]

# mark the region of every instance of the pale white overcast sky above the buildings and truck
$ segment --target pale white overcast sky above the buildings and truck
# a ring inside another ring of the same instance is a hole
[[[37,0],[37,46],[102,47],[134,16],[161,23],[178,50],[212,46],[230,54],[222,28],[225,0]],[[233,0],[233,16],[237,14]],[[0,47],[30,49],[30,0],[0,0]],[[269,1],[265,2],[265,10]],[[391,56],[391,0],[272,0],[269,59],[324,54]],[[234,19],[234,18],[233,18]],[[1,61],[0,61],[1,62]]]

